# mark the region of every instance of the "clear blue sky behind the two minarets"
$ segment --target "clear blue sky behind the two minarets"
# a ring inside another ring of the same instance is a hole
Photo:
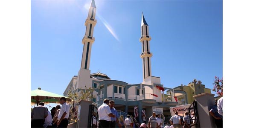
[[[77,75],[91,0],[31,0],[31,90],[63,95]],[[164,87],[222,78],[221,0],[95,0],[90,70],[112,80],[143,81],[141,14],[149,25],[152,76]],[[224,79],[225,81],[225,79]],[[215,94],[215,92],[212,92]]]

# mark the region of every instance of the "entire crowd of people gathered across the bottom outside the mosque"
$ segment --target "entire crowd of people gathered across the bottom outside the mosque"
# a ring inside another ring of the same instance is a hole
[[[218,128],[222,128],[222,97],[215,101],[215,105],[212,106],[209,111],[210,115],[215,119],[215,124]],[[31,128],[67,128],[68,118],[70,113],[70,106],[66,102],[65,97],[60,98],[60,105],[53,107],[51,112],[44,107],[44,102],[40,102],[38,106],[31,111]],[[118,115],[114,108],[115,102],[104,99],[103,104],[98,108],[99,121],[98,124],[96,114],[93,113],[93,128],[190,128],[191,122],[189,119],[189,113],[185,112],[183,121],[175,112],[175,115],[171,117],[169,123],[164,123],[165,117],[163,114],[152,113],[152,116],[146,120],[147,117],[142,112],[143,123],[139,123],[136,117],[127,115]],[[118,118],[119,117],[119,118]],[[162,118],[161,118],[162,117]]]

